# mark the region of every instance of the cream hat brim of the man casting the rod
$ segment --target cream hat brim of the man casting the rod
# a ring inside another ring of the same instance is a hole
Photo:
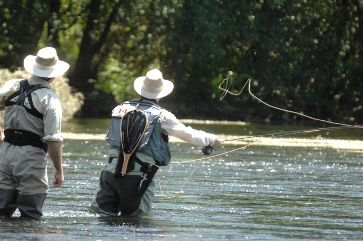
[[[141,95],[142,97],[148,98],[148,99],[158,99],[167,96],[171,93],[174,89],[174,84],[167,80],[163,79],[163,89],[158,92],[150,92],[142,88],[142,83],[146,76],[138,77],[134,81],[134,89],[136,93]]]

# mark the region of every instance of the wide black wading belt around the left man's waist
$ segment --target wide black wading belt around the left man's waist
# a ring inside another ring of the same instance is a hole
[[[40,140],[41,137],[30,131],[6,129],[4,135],[4,142],[14,146],[33,146],[42,148],[44,152],[48,151],[48,145]]]

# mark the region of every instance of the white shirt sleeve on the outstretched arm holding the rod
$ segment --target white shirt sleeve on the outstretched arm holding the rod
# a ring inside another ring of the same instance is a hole
[[[186,127],[168,111],[163,119],[161,128],[168,135],[175,136],[176,138],[197,146],[213,145],[216,141],[216,135],[195,130],[190,126]]]

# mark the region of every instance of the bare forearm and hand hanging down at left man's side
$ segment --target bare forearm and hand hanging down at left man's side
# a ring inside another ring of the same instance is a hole
[[[48,141],[48,152],[52,159],[54,168],[54,187],[60,187],[64,182],[63,167],[62,167],[62,142]]]

